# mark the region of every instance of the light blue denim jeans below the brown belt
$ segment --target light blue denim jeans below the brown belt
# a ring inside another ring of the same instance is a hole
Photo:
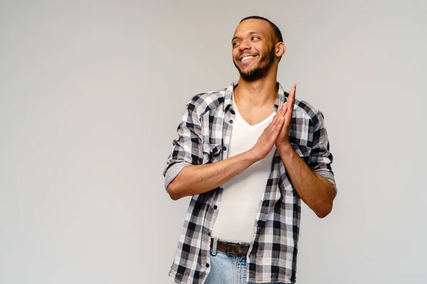
[[[211,249],[211,271],[205,284],[255,284],[246,282],[246,256]],[[263,284],[283,284],[268,282]]]

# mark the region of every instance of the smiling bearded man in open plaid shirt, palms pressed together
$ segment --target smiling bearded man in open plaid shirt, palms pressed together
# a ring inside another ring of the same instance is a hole
[[[322,218],[336,195],[323,116],[277,82],[277,26],[244,18],[231,44],[238,82],[191,99],[164,170],[173,200],[192,196],[169,276],[294,283],[300,200]]]

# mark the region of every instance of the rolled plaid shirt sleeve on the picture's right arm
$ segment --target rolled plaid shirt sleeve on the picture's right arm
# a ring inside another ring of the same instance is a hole
[[[330,152],[330,143],[327,138],[324,116],[321,111],[317,110],[315,116],[315,131],[313,133],[313,146],[310,153],[309,167],[323,178],[329,180],[337,194],[337,184],[332,171],[332,153]]]

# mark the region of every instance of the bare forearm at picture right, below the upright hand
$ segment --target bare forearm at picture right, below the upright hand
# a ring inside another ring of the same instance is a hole
[[[332,210],[334,186],[329,180],[312,171],[289,143],[278,147],[278,151],[301,200],[318,217],[326,217]]]

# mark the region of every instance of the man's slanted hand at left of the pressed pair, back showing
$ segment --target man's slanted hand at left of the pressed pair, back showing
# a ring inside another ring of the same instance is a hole
[[[273,117],[273,121],[264,129],[258,141],[251,148],[251,153],[255,160],[262,160],[265,158],[274,146],[275,141],[280,135],[280,130],[283,129],[285,121],[285,114],[288,108],[284,105],[278,108],[278,112]]]

